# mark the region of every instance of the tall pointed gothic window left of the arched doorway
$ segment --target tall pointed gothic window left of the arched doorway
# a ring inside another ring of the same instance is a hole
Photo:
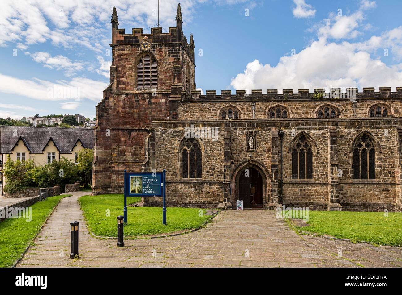
[[[182,149],[182,177],[201,178],[202,152],[197,140],[187,138]]]

